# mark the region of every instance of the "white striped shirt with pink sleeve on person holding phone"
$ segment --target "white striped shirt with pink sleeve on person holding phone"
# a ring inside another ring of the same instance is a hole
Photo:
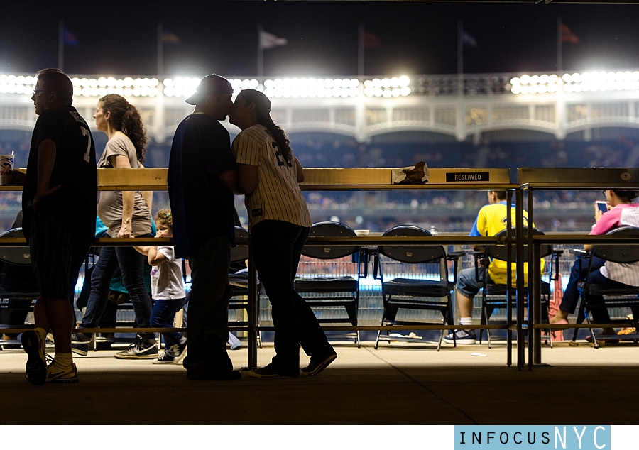
[[[606,234],[620,226],[639,227],[639,204],[618,204],[608,212],[604,212],[590,234]],[[599,268],[601,275],[613,281],[623,282],[628,286],[639,286],[638,263],[611,263]]]

